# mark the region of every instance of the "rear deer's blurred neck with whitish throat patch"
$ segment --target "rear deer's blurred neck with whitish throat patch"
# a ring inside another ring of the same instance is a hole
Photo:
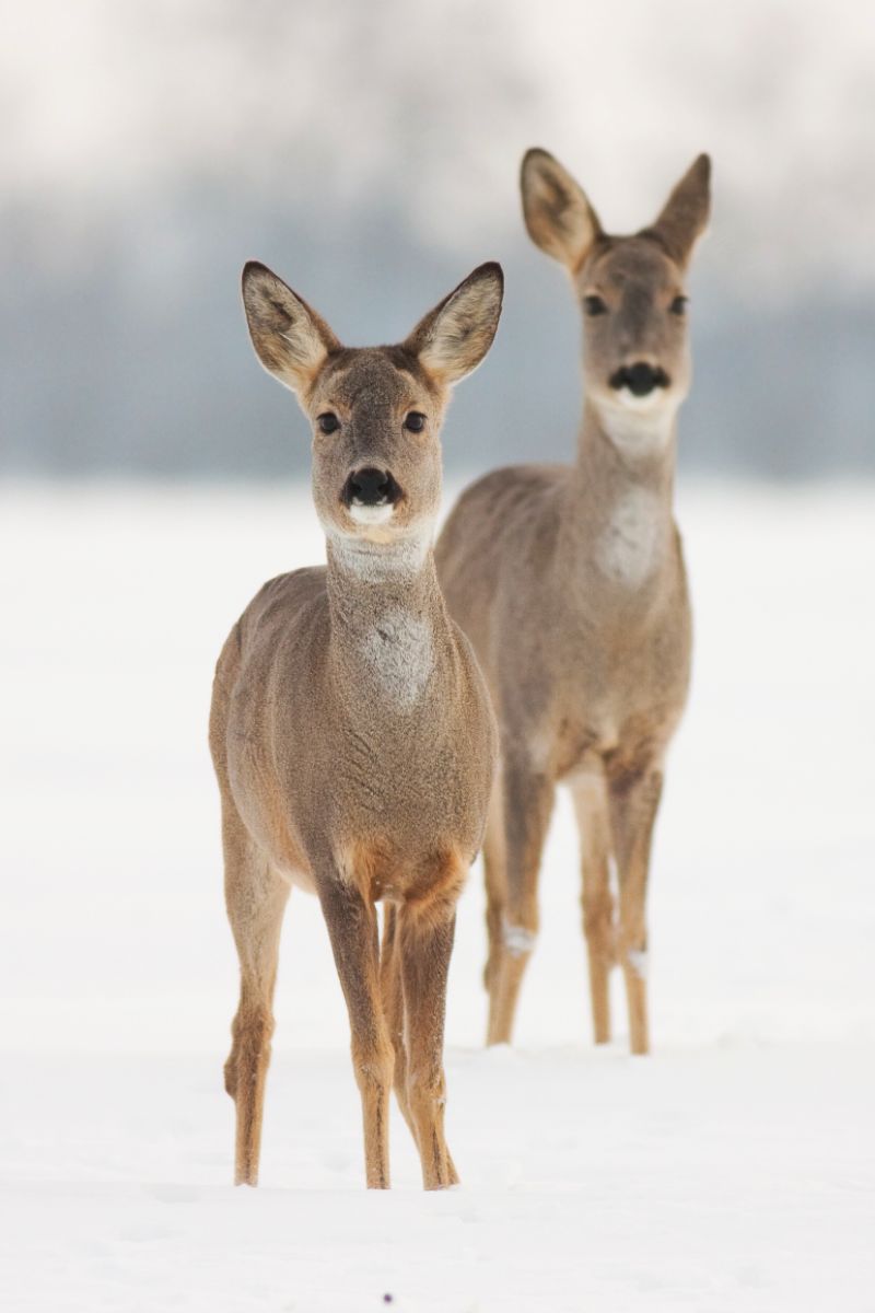
[[[645,596],[676,567],[676,448],[677,408],[584,406],[567,540],[588,588],[611,604]]]

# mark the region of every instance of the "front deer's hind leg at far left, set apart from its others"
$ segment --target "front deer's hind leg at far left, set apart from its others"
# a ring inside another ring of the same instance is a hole
[[[231,1025],[224,1087],[236,1108],[236,1186],[257,1186],[261,1119],[273,1035],[282,915],[289,885],[247,834],[232,804],[223,804],[224,893],[240,958],[240,1003]]]

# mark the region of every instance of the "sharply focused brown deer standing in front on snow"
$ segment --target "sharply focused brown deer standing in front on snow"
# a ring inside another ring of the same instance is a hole
[[[392,1088],[425,1188],[458,1182],[443,1128],[447,970],[497,730],[433,537],[443,412],[492,344],[502,290],[500,265],[483,264],[399,345],[349,348],[265,265],[243,272],[256,356],[312,425],[327,563],[266,583],[215,668],[210,748],[240,960],[224,1067],[236,1184],[258,1180],[293,886],[319,898],[349,1012],[367,1187],[390,1186]]]

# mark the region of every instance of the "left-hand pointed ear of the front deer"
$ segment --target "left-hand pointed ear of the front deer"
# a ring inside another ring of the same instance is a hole
[[[293,393],[306,391],[340,343],[328,324],[266,265],[243,270],[243,306],[256,356]]]

